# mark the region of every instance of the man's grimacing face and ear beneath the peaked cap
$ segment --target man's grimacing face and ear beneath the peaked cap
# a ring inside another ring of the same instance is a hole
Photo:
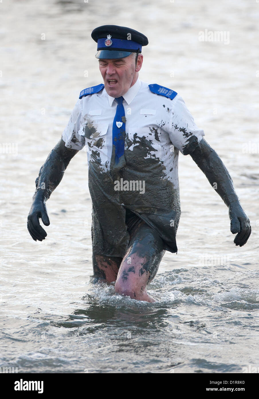
[[[125,58],[99,59],[99,69],[104,80],[105,90],[109,96],[120,97],[135,84],[142,61],[143,55],[139,55],[135,69],[134,53]]]

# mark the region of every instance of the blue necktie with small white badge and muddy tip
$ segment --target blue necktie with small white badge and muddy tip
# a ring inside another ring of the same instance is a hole
[[[125,166],[124,145],[125,145],[125,111],[122,105],[123,97],[115,99],[118,103],[116,114],[112,125],[112,158],[110,169],[114,176]]]

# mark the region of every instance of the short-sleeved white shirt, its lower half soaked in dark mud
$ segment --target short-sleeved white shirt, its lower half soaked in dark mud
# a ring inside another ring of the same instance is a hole
[[[128,208],[157,231],[167,251],[175,253],[181,215],[179,150],[184,155],[192,152],[204,131],[179,94],[173,99],[154,94],[149,83],[138,79],[123,97],[125,162],[116,176],[110,163],[117,102],[104,88],[77,101],[62,134],[66,147],[86,146],[93,252],[124,257],[130,240]]]

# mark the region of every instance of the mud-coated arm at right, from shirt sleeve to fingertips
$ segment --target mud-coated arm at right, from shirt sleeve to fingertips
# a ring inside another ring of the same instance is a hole
[[[186,148],[187,151],[187,148]],[[214,190],[229,208],[230,231],[235,234],[234,243],[242,247],[251,234],[249,218],[243,210],[235,192],[232,178],[222,160],[202,138],[200,142],[192,139],[188,144],[188,154],[205,174]]]

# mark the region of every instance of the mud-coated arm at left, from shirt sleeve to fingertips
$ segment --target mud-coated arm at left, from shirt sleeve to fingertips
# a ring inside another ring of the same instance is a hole
[[[45,202],[61,182],[70,160],[77,152],[78,150],[67,148],[61,138],[39,170],[39,176],[35,180],[36,190],[27,218],[27,228],[34,241],[42,241],[47,236],[39,224],[39,218],[45,226],[49,225]]]

